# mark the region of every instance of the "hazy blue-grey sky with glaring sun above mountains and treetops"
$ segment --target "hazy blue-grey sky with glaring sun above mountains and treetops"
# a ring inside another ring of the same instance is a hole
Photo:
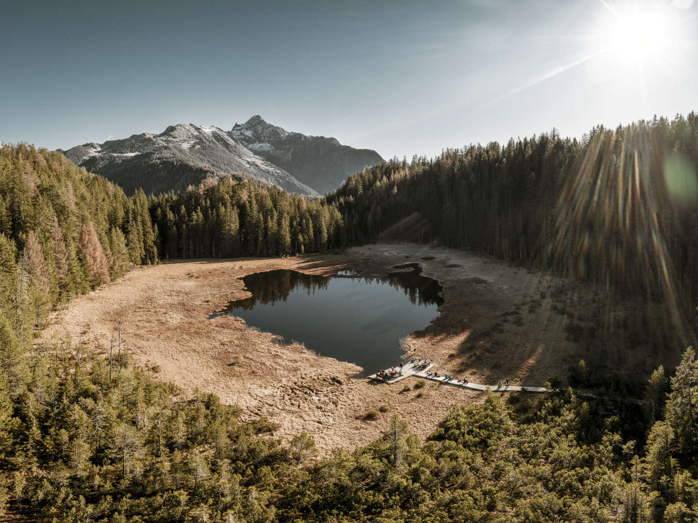
[[[385,158],[553,127],[580,136],[698,110],[697,10],[691,0],[6,3],[0,141],[67,149],[180,122],[228,130],[253,114]]]

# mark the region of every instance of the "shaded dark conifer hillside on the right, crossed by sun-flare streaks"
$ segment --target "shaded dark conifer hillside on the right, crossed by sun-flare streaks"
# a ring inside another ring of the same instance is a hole
[[[392,160],[328,195],[347,243],[468,247],[560,275],[695,306],[698,115],[557,132]],[[419,217],[415,216],[419,213]]]

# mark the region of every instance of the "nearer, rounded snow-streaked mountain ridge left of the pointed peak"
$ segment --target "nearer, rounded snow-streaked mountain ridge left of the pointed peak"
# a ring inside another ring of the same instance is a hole
[[[103,144],[88,143],[61,151],[76,165],[101,174],[131,194],[143,188],[158,194],[186,190],[208,176],[239,173],[289,192],[318,195],[284,169],[253,153],[217,127],[180,123],[159,135],[144,132]]]

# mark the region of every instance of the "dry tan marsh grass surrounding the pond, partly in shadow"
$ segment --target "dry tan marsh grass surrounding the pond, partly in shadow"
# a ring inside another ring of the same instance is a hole
[[[370,276],[406,262],[419,263],[423,274],[436,278],[444,289],[439,317],[406,340],[408,354],[431,359],[440,372],[484,384],[510,379],[513,384],[542,385],[550,377],[564,381],[570,365],[589,356],[590,344],[578,339],[586,340],[586,323],[579,320],[581,334],[569,325],[577,325],[574,321],[588,310],[587,302],[593,303],[591,290],[569,289],[562,280],[465,250],[422,245],[369,245],[341,255],[176,261],[139,268],[75,299],[68,310],[56,314],[37,342],[52,344],[67,336],[75,344],[81,336],[107,352],[121,319],[122,349],[136,365],[158,365],[157,376],[186,394],[198,388],[239,404],[244,418],[267,416],[281,424],[276,432],[281,437],[309,432],[322,454],[376,439],[392,414],[425,437],[450,407],[481,401],[482,393],[436,384],[403,391],[406,384],[414,386],[414,379],[393,386],[371,384],[351,363],[318,356],[300,344],[280,345],[272,333],[248,328],[239,319],[207,319],[247,295],[238,278],[249,273],[289,268],[332,275],[352,268]],[[618,364],[644,370],[653,363],[651,356],[639,354]],[[366,416],[369,411],[373,416]]]

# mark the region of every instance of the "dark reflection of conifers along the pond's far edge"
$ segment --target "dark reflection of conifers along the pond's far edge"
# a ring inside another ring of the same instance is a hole
[[[421,272],[417,267],[410,272],[387,273],[378,278],[351,278],[347,276],[335,276],[334,278],[364,280],[366,285],[371,285],[373,282],[387,283],[395,289],[403,289],[413,304],[441,305],[443,303],[443,299],[439,296],[442,290],[441,286],[436,280],[422,276]],[[332,277],[304,274],[287,269],[250,274],[244,276],[242,281],[252,296],[231,302],[223,312],[235,308],[249,310],[257,303],[266,305],[275,301],[286,301],[291,291],[299,287],[306,289],[309,295],[315,294],[317,289],[327,289],[329,280],[332,280]]]

